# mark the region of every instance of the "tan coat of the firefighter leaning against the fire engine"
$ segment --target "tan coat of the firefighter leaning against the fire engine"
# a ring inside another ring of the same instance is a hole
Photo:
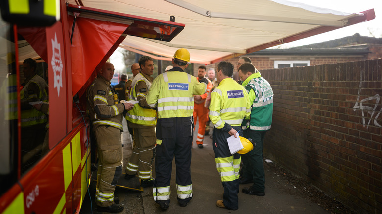
[[[125,106],[114,104],[114,92],[110,81],[97,75],[87,92],[89,116],[93,124],[93,131],[101,125],[113,126],[122,130],[122,113]]]

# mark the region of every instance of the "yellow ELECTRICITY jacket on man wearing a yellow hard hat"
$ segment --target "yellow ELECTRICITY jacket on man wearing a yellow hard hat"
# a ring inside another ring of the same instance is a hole
[[[174,67],[154,79],[146,100],[150,107],[158,107],[158,118],[191,117],[193,95],[204,94],[206,88],[196,77]]]

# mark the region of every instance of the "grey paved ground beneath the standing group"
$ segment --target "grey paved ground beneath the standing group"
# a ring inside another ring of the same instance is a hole
[[[195,128],[197,131],[197,127]],[[126,133],[125,133],[126,134]],[[197,133],[196,133],[197,134]],[[212,134],[212,128],[210,131]],[[131,139],[124,135],[124,158],[125,166],[131,155]],[[269,164],[264,162],[265,164]],[[123,168],[124,171],[124,168]],[[155,177],[155,170],[153,173]],[[204,148],[199,149],[196,145],[196,135],[192,148],[191,178],[193,187],[193,198],[186,207],[180,207],[176,199],[175,185],[175,163],[172,164],[171,173],[171,195],[170,207],[163,211],[160,206],[154,202],[152,188],[144,188],[144,192],[133,192],[117,188],[115,194],[119,196],[121,202],[125,204],[123,214],[224,214],[224,213],[247,213],[247,214],[327,214],[319,205],[310,202],[308,199],[298,194],[287,191],[287,184],[284,180],[269,170],[265,171],[265,196],[247,195],[241,192],[243,187],[249,187],[251,184],[240,185],[239,191],[239,209],[236,211],[219,208],[216,201],[223,199],[223,187],[220,182],[219,174],[216,170],[215,155],[212,149],[212,139],[210,136],[204,138]],[[94,183],[94,182],[92,182]],[[91,183],[90,190],[95,189],[95,184]],[[289,187],[290,189],[290,187]],[[91,191],[93,192],[93,191]],[[92,195],[95,193],[93,192]],[[142,196],[142,203],[139,202]],[[92,196],[92,200],[94,196]],[[133,200],[136,200],[133,202]],[[93,207],[96,212],[95,203],[93,206],[87,205],[85,199],[81,214],[92,213],[87,207]],[[142,204],[142,207],[141,207]]]

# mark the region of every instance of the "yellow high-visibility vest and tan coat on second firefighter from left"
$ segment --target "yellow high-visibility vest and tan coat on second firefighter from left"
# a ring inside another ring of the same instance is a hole
[[[126,113],[126,119],[131,123],[143,126],[155,126],[157,124],[157,112],[148,107],[145,102],[146,94],[151,87],[153,78],[145,76],[142,73],[137,74],[131,84],[129,100],[139,101],[139,103],[134,104],[134,108]]]

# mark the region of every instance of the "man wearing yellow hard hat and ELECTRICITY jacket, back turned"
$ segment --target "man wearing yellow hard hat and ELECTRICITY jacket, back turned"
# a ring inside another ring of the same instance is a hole
[[[158,108],[157,153],[153,196],[162,209],[170,206],[171,163],[175,156],[176,187],[180,206],[186,206],[192,198],[191,148],[193,139],[193,95],[206,92],[207,83],[199,83],[184,72],[190,61],[190,53],[178,49],[172,64],[174,67],[154,79],[146,100]]]

